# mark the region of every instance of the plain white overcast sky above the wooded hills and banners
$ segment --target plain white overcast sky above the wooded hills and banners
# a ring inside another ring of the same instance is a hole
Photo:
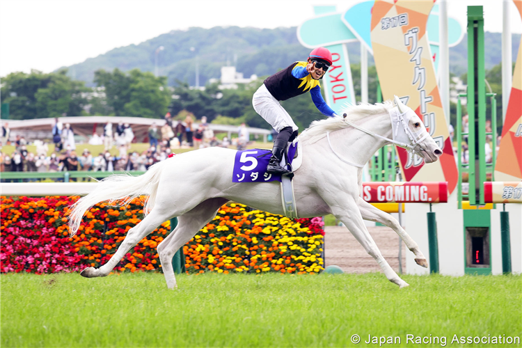
[[[313,6],[344,12],[358,0],[0,0],[0,76],[51,72],[116,47],[139,44],[191,26],[298,26]],[[511,0],[512,33],[522,20]],[[484,6],[484,29],[502,31],[501,0],[448,1],[450,17],[466,24],[466,6]]]

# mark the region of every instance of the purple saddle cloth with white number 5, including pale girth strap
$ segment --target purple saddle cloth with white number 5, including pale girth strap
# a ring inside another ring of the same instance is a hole
[[[297,155],[298,142],[288,146],[288,151],[283,156],[281,166],[292,166],[292,161]],[[270,150],[253,149],[237,151],[234,160],[234,171],[232,182],[281,182],[281,197],[283,200],[283,210],[290,219],[297,219],[297,209],[294,198],[294,188],[290,177],[280,174],[267,173],[267,166],[272,155]],[[286,157],[286,159],[285,159]],[[293,175],[292,175],[293,176]]]

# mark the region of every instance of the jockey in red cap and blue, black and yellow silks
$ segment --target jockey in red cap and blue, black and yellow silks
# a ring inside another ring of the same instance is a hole
[[[292,173],[279,163],[288,142],[293,141],[297,136],[298,127],[279,104],[280,100],[287,100],[310,91],[312,100],[321,113],[326,116],[335,115],[330,106],[324,102],[319,85],[319,79],[323,78],[331,64],[332,54],[328,49],[324,47],[313,49],[308,56],[308,61],[292,63],[288,68],[273,74],[264,80],[254,93],[252,104],[255,112],[279,133],[274,140],[272,157],[267,166],[268,173],[283,175]]]

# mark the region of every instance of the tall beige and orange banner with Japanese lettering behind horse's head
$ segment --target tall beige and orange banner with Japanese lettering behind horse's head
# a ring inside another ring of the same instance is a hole
[[[457,164],[426,35],[433,6],[432,0],[376,0],[371,22],[372,49],[383,99],[400,97],[424,121],[443,151],[437,162],[426,166],[418,155],[397,148],[405,180],[448,182],[452,193],[457,186]]]

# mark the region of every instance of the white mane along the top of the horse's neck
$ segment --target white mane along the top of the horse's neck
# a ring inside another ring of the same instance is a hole
[[[334,116],[325,118],[324,120],[317,120],[310,124],[310,127],[305,129],[303,133],[299,136],[299,140],[303,141],[303,143],[315,143],[319,139],[324,138],[326,136],[326,132],[333,132],[338,129],[343,129],[349,127],[347,122],[357,122],[361,120],[361,118],[366,118],[368,116],[378,115],[381,113],[388,113],[390,109],[393,108],[393,102],[387,100],[383,103],[377,104],[367,104],[367,103],[359,103],[358,105],[349,105],[342,110],[342,113],[346,113],[346,118],[342,118],[342,116]]]

